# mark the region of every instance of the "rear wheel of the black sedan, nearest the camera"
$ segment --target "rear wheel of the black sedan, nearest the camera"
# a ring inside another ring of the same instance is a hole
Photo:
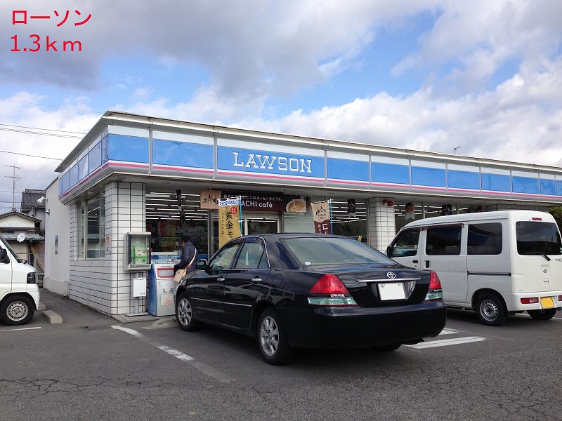
[[[258,345],[263,359],[273,366],[287,363],[294,356],[279,316],[273,308],[265,309],[259,318]]]

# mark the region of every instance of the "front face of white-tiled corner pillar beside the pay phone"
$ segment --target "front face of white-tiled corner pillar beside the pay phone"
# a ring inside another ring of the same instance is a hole
[[[124,269],[125,234],[146,229],[145,185],[140,182],[111,182],[105,187],[105,234],[110,238],[111,314],[144,312],[146,299],[132,296],[135,272]]]

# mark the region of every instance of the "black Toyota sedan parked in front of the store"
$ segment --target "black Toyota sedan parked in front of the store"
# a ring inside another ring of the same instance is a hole
[[[445,326],[435,272],[344,236],[244,236],[197,269],[176,289],[179,326],[210,323],[257,338],[271,364],[288,361],[293,347],[391,351]]]

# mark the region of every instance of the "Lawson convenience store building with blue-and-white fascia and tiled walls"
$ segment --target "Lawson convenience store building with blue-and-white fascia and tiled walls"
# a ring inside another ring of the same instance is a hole
[[[150,232],[152,258],[165,258],[188,234],[210,256],[218,197],[242,196],[245,234],[313,232],[308,204],[331,200],[334,234],[379,250],[408,222],[406,208],[419,219],[562,203],[562,168],[112,111],[56,171],[44,284],[106,314],[146,304],[131,294],[139,274],[125,268],[125,235]]]

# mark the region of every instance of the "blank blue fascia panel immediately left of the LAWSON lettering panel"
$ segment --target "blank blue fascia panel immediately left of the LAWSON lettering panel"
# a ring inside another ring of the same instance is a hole
[[[174,140],[152,141],[152,163],[186,166],[195,168],[214,168],[213,145],[174,142]]]

